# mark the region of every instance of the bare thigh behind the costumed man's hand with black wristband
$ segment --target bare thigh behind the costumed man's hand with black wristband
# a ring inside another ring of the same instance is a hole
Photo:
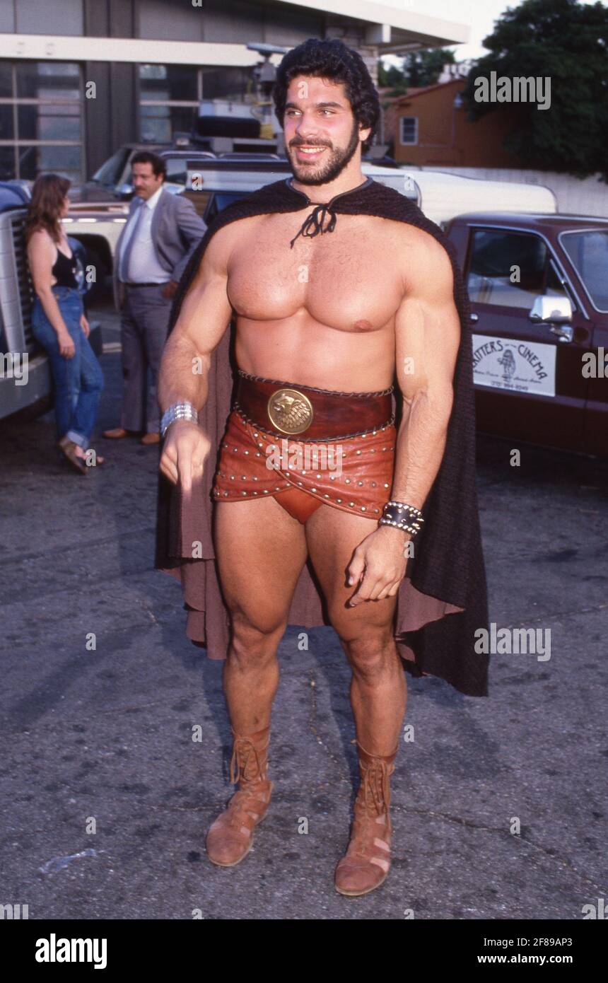
[[[329,617],[341,641],[365,635],[377,638],[392,634],[397,596],[365,601],[347,607],[357,585],[347,585],[347,567],[359,543],[378,528],[375,519],[365,519],[331,505],[321,505],[305,524],[308,554],[325,596]]]

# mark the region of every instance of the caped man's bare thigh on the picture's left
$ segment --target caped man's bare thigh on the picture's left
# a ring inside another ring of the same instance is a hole
[[[261,632],[287,624],[306,560],[304,526],[271,496],[216,501],[213,539],[226,604]]]

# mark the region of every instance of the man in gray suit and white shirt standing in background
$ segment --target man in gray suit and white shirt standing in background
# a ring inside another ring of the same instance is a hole
[[[156,380],[171,300],[206,226],[192,202],[163,188],[162,157],[139,150],[131,163],[135,195],[116,246],[113,276],[121,313],[123,412],[121,426],[103,435],[120,440],[144,431],[141,443],[151,444],[160,440]]]

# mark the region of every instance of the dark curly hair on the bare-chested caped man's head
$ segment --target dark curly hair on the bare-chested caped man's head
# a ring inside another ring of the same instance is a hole
[[[359,51],[348,47],[344,41],[322,41],[316,37],[309,37],[307,41],[288,51],[277,69],[272,90],[275,112],[281,125],[285,115],[287,89],[290,82],[299,75],[344,84],[355,119],[362,127],[371,128],[367,140],[362,143],[362,149],[367,150],[373,141],[380,118],[380,100]]]

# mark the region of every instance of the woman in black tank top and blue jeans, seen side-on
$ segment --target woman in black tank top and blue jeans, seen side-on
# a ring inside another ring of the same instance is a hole
[[[103,374],[88,341],[88,321],[77,280],[77,263],[61,219],[68,213],[70,182],[39,175],[31,191],[26,242],[35,298],[31,331],[48,353],[55,389],[55,424],[62,460],[85,475],[103,458],[89,447]]]

